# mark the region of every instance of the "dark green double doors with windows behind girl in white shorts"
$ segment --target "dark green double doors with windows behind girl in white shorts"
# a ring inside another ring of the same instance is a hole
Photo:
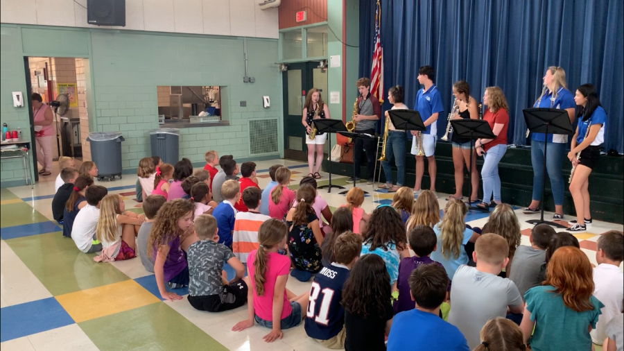
[[[306,94],[313,87],[320,90],[325,103],[327,93],[327,69],[318,67],[318,62],[297,62],[288,64],[288,71],[281,74],[284,87],[284,157],[307,161],[306,130],[302,126],[303,106]],[[325,144],[325,153],[329,150]]]

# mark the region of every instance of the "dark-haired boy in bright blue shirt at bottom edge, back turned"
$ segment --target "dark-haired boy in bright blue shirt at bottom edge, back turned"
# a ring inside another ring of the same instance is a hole
[[[423,264],[410,273],[412,308],[397,314],[392,321],[388,351],[469,351],[459,329],[440,318],[440,305],[447,298],[448,282],[447,272],[436,264]]]

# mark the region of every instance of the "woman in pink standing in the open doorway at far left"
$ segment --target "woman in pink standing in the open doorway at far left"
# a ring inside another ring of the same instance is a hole
[[[35,147],[37,151],[37,162],[41,164],[42,176],[49,176],[52,171],[52,144],[54,140],[54,115],[52,109],[40,94],[31,95],[33,101],[33,119],[35,121]]]

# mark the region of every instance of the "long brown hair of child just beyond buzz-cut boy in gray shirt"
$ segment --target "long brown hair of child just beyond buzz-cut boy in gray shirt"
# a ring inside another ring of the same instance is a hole
[[[505,275],[509,277],[511,262],[521,241],[520,222],[514,209],[506,203],[501,203],[501,205],[494,207],[481,232],[499,234],[507,240],[509,244],[509,263],[505,268]]]

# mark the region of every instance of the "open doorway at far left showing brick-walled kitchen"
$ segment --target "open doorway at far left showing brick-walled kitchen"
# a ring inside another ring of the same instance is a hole
[[[83,160],[91,160],[90,150],[86,145],[89,132],[86,84],[88,62],[87,58],[24,58],[27,101],[31,103],[29,108],[32,110],[31,125],[35,114],[44,111],[33,109],[33,93],[41,96],[42,103],[45,104],[43,106],[50,108],[53,117],[51,128],[45,128],[49,137],[45,147],[42,147],[44,142],[40,143],[42,139],[37,138],[41,127],[31,130],[31,139],[35,141],[35,180],[54,181],[61,171],[59,157],[72,157],[76,160],[76,166],[80,166]],[[44,163],[50,158],[51,166],[44,167]]]

